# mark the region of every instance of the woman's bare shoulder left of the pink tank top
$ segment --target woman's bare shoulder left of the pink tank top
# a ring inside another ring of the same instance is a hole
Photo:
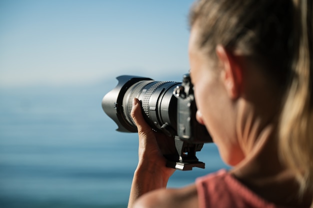
[[[157,189],[142,195],[134,207],[198,207],[196,187],[192,184],[183,188]]]

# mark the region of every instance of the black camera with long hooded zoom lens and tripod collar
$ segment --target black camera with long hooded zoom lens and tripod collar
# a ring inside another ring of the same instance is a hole
[[[117,80],[116,87],[102,99],[102,108],[117,124],[116,130],[137,132],[130,115],[132,99],[136,97],[151,128],[175,140],[177,153],[164,155],[167,166],[180,170],[190,170],[194,166],[204,168],[195,152],[212,139],[205,126],[195,119],[196,104],[189,74],[183,75],[182,82],[154,81],[129,75],[118,76]]]

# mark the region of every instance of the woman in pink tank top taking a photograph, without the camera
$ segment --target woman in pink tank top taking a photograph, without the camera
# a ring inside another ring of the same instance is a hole
[[[134,99],[139,162],[128,207],[313,207],[311,0],[199,0],[190,26],[196,117],[233,168],[165,189],[169,139]]]

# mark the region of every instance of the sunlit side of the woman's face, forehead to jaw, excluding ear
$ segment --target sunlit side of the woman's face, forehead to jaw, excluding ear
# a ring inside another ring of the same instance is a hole
[[[189,41],[190,76],[194,86],[194,96],[198,108],[197,120],[204,124],[223,160],[234,165],[244,157],[239,141],[235,136],[237,95],[227,94],[224,86],[226,74],[221,67],[201,53],[195,45],[196,32],[191,32]],[[215,67],[215,68],[214,68]],[[228,84],[230,85],[230,83]],[[231,86],[229,86],[231,87]],[[225,119],[227,118],[227,119]],[[222,138],[222,139],[216,139]]]

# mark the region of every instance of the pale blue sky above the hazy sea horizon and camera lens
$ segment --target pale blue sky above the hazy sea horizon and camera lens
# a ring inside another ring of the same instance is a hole
[[[0,0],[0,87],[182,74],[192,2]]]

